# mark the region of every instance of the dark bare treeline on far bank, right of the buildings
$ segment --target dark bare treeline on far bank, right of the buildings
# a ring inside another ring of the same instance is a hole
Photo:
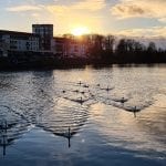
[[[103,46],[104,45],[104,46]],[[166,50],[157,49],[154,42],[147,46],[133,39],[121,39],[115,45],[115,38],[98,35],[90,49],[90,56],[101,63],[165,63]]]

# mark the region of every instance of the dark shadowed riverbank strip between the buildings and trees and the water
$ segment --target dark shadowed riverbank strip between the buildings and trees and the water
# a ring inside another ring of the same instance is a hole
[[[120,62],[120,61],[104,61],[92,59],[58,59],[56,56],[33,56],[30,59],[9,59],[0,58],[0,71],[27,71],[27,70],[53,70],[53,69],[75,69],[85,68],[91,65],[93,68],[105,68],[111,65],[117,66],[133,66],[133,65],[147,65],[153,66],[156,64],[165,64],[166,62]]]

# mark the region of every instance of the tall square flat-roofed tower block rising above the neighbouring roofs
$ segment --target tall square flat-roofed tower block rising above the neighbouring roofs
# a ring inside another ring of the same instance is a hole
[[[40,35],[41,51],[50,52],[53,39],[53,24],[32,24],[32,33]]]

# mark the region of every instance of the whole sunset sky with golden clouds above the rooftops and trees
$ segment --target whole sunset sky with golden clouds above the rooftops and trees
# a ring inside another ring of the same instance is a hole
[[[31,32],[53,23],[54,34],[75,28],[91,33],[166,37],[166,0],[1,0],[0,29]]]

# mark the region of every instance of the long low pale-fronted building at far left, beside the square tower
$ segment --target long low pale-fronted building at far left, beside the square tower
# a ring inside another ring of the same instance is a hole
[[[1,55],[9,52],[39,52],[40,37],[32,33],[0,30]]]

